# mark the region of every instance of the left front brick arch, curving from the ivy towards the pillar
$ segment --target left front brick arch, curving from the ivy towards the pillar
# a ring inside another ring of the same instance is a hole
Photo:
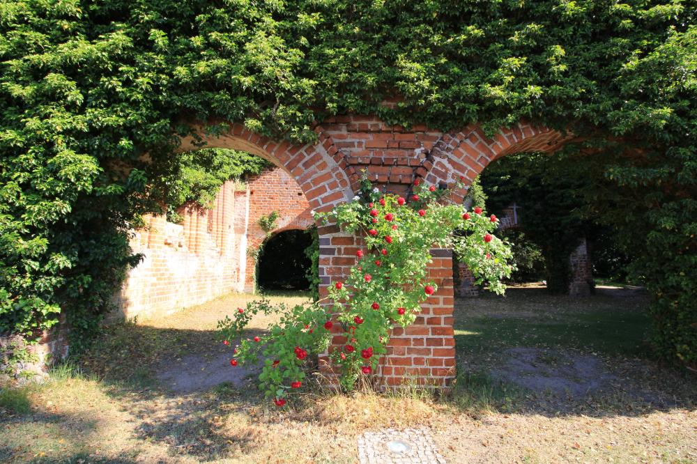
[[[180,151],[204,147],[230,148],[262,157],[289,173],[316,211],[331,210],[337,203],[350,201],[353,197],[342,155],[337,153],[321,127],[315,130],[318,141],[305,145],[275,141],[238,123],[229,124],[227,130],[215,135],[206,133],[202,125],[193,127],[197,129],[200,139],[185,137],[181,141]],[[201,142],[205,142],[205,145],[201,146]]]

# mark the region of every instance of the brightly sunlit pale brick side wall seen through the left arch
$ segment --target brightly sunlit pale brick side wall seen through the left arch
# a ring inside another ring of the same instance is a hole
[[[171,224],[162,215],[147,216],[146,228],[132,233],[131,248],[144,258],[117,295],[119,311],[143,318],[241,290],[244,235],[236,219],[241,212],[244,220],[246,197],[246,192],[236,192],[234,183],[226,183],[212,209],[181,208],[182,224]]]

